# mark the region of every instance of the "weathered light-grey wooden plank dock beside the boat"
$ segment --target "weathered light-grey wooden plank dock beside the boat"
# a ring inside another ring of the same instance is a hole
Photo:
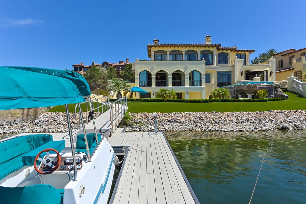
[[[123,132],[108,139],[128,145],[110,203],[199,203],[162,132]]]

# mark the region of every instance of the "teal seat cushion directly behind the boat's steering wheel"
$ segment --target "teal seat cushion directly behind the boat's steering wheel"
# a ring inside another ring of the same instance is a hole
[[[23,165],[26,166],[32,166],[34,165],[34,159],[36,157],[36,155],[47,148],[52,148],[57,150],[58,152],[61,152],[64,148],[65,148],[65,140],[59,140],[59,141],[50,141],[47,142],[46,144],[37,147],[36,149],[29,151],[25,154],[22,155],[22,163]],[[50,151],[49,154],[56,154],[54,151]],[[40,158],[43,158],[46,155],[46,152],[43,152],[42,154],[40,154]],[[40,161],[36,161],[36,165],[39,165]]]

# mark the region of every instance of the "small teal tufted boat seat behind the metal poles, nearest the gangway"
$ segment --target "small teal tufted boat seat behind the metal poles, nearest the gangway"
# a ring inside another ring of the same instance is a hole
[[[98,143],[99,143],[101,141],[101,135],[97,134],[97,136],[98,136]],[[95,134],[94,133],[86,134],[86,137],[87,137],[87,143],[88,143],[88,148],[89,148],[89,154],[91,154],[97,147]],[[76,137],[76,152],[78,151],[84,152],[87,154],[84,134],[77,135]]]

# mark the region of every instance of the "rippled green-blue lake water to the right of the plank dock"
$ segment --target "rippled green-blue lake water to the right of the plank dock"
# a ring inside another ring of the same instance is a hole
[[[305,131],[165,135],[200,203],[248,203],[266,150],[251,203],[306,203]]]

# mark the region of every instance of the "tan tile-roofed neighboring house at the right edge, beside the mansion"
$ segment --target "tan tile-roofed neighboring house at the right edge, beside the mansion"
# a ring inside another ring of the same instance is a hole
[[[306,47],[299,50],[285,50],[274,54],[273,57],[276,61],[276,81],[287,80],[291,74],[296,76],[298,80],[305,80]]]

